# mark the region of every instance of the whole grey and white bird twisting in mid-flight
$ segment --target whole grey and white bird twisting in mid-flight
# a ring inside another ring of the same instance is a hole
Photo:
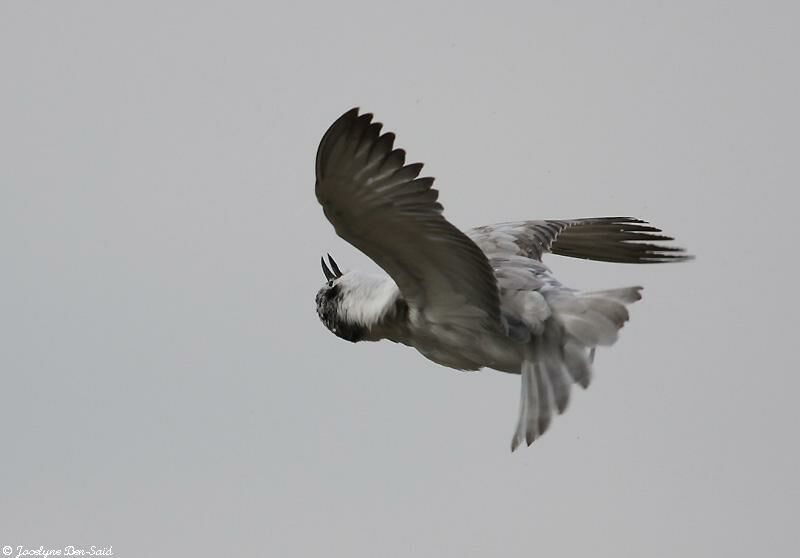
[[[651,264],[692,259],[661,229],[632,217],[531,220],[461,231],[443,215],[433,178],[406,163],[395,134],[353,108],[325,132],[315,194],[336,234],[383,273],[342,272],[328,254],[317,314],[356,343],[389,340],[452,369],[518,374],[513,452],[587,388],[595,350],[613,345],[642,287],[564,286],[547,254]]]

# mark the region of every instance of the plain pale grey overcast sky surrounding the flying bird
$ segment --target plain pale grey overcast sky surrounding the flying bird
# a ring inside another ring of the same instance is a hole
[[[795,2],[3,2],[0,546],[789,556]],[[698,258],[509,453],[519,379],[319,323],[313,192],[374,111],[457,226],[632,215]],[[16,553],[16,551],[15,551]]]

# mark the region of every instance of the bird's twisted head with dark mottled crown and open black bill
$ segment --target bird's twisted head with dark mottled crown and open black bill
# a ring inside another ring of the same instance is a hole
[[[363,340],[368,333],[368,326],[360,323],[357,316],[348,312],[358,301],[354,298],[354,283],[357,277],[352,272],[342,273],[339,266],[328,254],[330,267],[322,258],[322,271],[326,282],[317,292],[317,314],[334,335],[346,341],[356,343]]]

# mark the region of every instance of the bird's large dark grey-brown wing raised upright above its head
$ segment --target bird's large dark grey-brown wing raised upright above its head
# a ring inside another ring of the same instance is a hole
[[[486,256],[442,216],[433,178],[405,164],[394,134],[358,109],[328,129],[317,151],[316,194],[336,233],[394,279],[409,306],[436,323],[500,327]]]

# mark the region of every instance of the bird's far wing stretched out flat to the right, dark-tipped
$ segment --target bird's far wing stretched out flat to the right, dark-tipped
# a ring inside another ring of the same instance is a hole
[[[467,235],[492,256],[541,260],[545,252],[615,263],[664,263],[691,259],[661,230],[632,217],[520,221],[476,227]]]

